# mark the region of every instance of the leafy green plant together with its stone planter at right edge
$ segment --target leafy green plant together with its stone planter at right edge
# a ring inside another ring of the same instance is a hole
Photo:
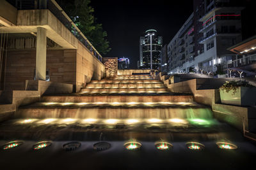
[[[220,87],[220,98],[223,104],[253,106],[256,104],[256,87],[247,81],[226,81]]]

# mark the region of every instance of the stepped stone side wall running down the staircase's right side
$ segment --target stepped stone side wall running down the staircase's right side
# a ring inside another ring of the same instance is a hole
[[[161,73],[159,75],[161,76]],[[193,94],[194,101],[210,106],[213,117],[221,122],[226,122],[247,135],[250,132],[256,133],[255,106],[241,107],[221,104],[220,92],[217,88],[213,89],[213,87],[219,87],[225,79],[218,81],[212,81],[212,79],[193,79],[172,84],[170,84],[170,81],[164,80],[164,76],[161,76],[159,80],[163,81],[164,85],[171,92]],[[253,138],[256,141],[256,136],[248,138]]]

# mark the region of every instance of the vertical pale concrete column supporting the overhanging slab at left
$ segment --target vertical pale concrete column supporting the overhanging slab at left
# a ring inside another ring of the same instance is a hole
[[[46,79],[46,29],[38,27],[36,32],[36,80]]]

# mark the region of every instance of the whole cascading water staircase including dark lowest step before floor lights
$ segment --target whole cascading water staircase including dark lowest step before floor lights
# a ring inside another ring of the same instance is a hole
[[[109,139],[126,139],[125,132],[140,139],[147,131],[155,140],[167,131],[216,132],[209,127],[214,121],[211,108],[195,103],[190,94],[169,92],[148,75],[120,75],[20,107],[0,126],[0,138],[97,140],[104,132]]]

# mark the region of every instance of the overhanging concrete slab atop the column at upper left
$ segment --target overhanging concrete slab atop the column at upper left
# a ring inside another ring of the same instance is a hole
[[[49,10],[19,10],[17,25],[0,27],[8,33],[36,32],[37,27],[47,29],[47,37],[66,49],[77,49],[78,39]]]

